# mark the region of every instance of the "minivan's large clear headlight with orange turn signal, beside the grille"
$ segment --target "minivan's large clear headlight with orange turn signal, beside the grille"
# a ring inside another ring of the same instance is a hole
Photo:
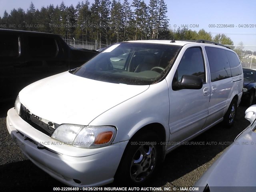
[[[111,126],[62,124],[51,138],[80,148],[96,148],[112,144],[115,136],[116,128]]]

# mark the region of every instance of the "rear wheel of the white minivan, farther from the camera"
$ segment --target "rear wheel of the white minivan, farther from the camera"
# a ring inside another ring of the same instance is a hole
[[[230,128],[236,119],[236,111],[237,111],[237,100],[233,99],[230,103],[230,106],[228,107],[228,111],[223,117],[223,124],[224,126],[227,126]]]

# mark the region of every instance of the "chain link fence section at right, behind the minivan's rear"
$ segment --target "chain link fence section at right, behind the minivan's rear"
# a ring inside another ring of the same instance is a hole
[[[242,68],[256,70],[256,46],[226,45],[238,54]]]

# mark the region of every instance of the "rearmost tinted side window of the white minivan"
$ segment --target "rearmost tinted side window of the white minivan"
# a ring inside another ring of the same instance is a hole
[[[240,60],[238,59],[237,55],[228,50],[225,50],[225,52],[228,56],[228,61],[229,61],[229,65],[231,68],[232,77],[242,75],[243,70],[242,70]]]

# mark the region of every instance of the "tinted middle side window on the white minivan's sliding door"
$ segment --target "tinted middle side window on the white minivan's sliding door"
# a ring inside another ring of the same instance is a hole
[[[205,50],[210,65],[211,81],[214,82],[231,77],[226,50],[208,46],[205,47]]]

